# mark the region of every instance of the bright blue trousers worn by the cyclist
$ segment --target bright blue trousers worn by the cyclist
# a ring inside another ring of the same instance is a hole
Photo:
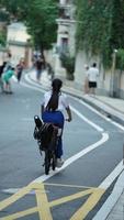
[[[42,114],[42,119],[46,123],[52,122],[55,125],[59,127],[60,129],[64,129],[64,114],[60,111],[45,111]],[[61,155],[63,155],[63,140],[61,136],[59,136],[56,156],[57,158],[60,158]]]

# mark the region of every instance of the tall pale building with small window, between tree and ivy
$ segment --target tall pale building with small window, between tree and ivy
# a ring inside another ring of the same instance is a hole
[[[75,33],[76,33],[76,21],[74,20],[74,11],[71,0],[59,1],[59,15],[57,19],[57,43],[55,57],[55,73],[59,77],[66,77],[66,69],[63,68],[60,62],[60,55],[63,53],[69,53],[71,56],[75,55]]]

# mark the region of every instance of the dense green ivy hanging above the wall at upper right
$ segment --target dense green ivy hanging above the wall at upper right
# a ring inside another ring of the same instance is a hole
[[[111,66],[114,48],[124,47],[124,3],[122,0],[77,0],[77,51],[99,55]]]

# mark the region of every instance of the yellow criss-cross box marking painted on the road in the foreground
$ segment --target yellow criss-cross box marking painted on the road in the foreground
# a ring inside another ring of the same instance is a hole
[[[53,185],[53,184],[46,184],[46,185]],[[55,186],[54,184],[53,186]],[[58,186],[66,186],[66,187],[72,187],[72,185],[58,185]],[[77,187],[77,186],[74,186]],[[81,187],[81,186],[80,186]],[[9,197],[8,199],[4,199],[3,201],[0,202],[0,210],[7,208],[8,206],[12,205],[26,194],[29,194],[31,190],[34,190],[36,194],[36,201],[37,201],[37,207],[33,207],[23,211],[19,211],[13,215],[5,216],[3,220],[14,220],[27,215],[32,215],[35,212],[38,212],[40,219],[42,220],[53,220],[52,213],[50,213],[50,208],[54,206],[59,206],[61,204],[76,200],[78,198],[81,198],[86,195],[90,195],[87,201],[75,212],[75,215],[70,218],[70,220],[82,220],[89,211],[93,209],[93,207],[97,205],[97,202],[100,200],[101,196],[104,194],[104,189],[100,188],[87,188],[82,191],[79,191],[77,194],[72,194],[70,196],[63,197],[60,199],[55,199],[53,201],[48,202],[47,195],[45,191],[45,187],[43,183],[33,183],[27,185],[26,187],[22,188],[20,191],[14,194],[13,196]]]

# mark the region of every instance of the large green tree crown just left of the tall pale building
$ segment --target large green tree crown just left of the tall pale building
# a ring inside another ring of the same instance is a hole
[[[29,9],[26,26],[41,52],[52,47],[56,41],[57,3],[53,0],[34,0]]]

